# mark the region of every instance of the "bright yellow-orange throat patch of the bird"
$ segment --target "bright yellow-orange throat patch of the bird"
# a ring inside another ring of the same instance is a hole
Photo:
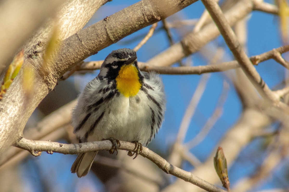
[[[116,77],[116,89],[126,97],[135,96],[141,87],[138,69],[132,65],[124,65]]]

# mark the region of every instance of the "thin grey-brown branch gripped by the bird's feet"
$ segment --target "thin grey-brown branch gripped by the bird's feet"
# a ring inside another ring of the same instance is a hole
[[[127,150],[134,152],[135,144],[125,141],[120,141],[121,146],[119,150]],[[14,144],[16,147],[27,150],[27,151],[46,151],[46,152],[56,152],[62,154],[79,154],[84,152],[92,152],[99,150],[110,150],[112,144],[110,141],[95,141],[89,143],[78,143],[78,144],[64,144],[51,141],[34,141],[22,138]],[[184,171],[178,167],[175,167],[168,163],[165,159],[160,157],[155,152],[143,147],[141,156],[149,159],[155,163],[160,169],[162,169],[167,174],[172,174],[178,178],[181,178],[187,182],[190,182],[198,187],[211,192],[225,192],[223,189],[214,186],[194,176],[190,172]]]

